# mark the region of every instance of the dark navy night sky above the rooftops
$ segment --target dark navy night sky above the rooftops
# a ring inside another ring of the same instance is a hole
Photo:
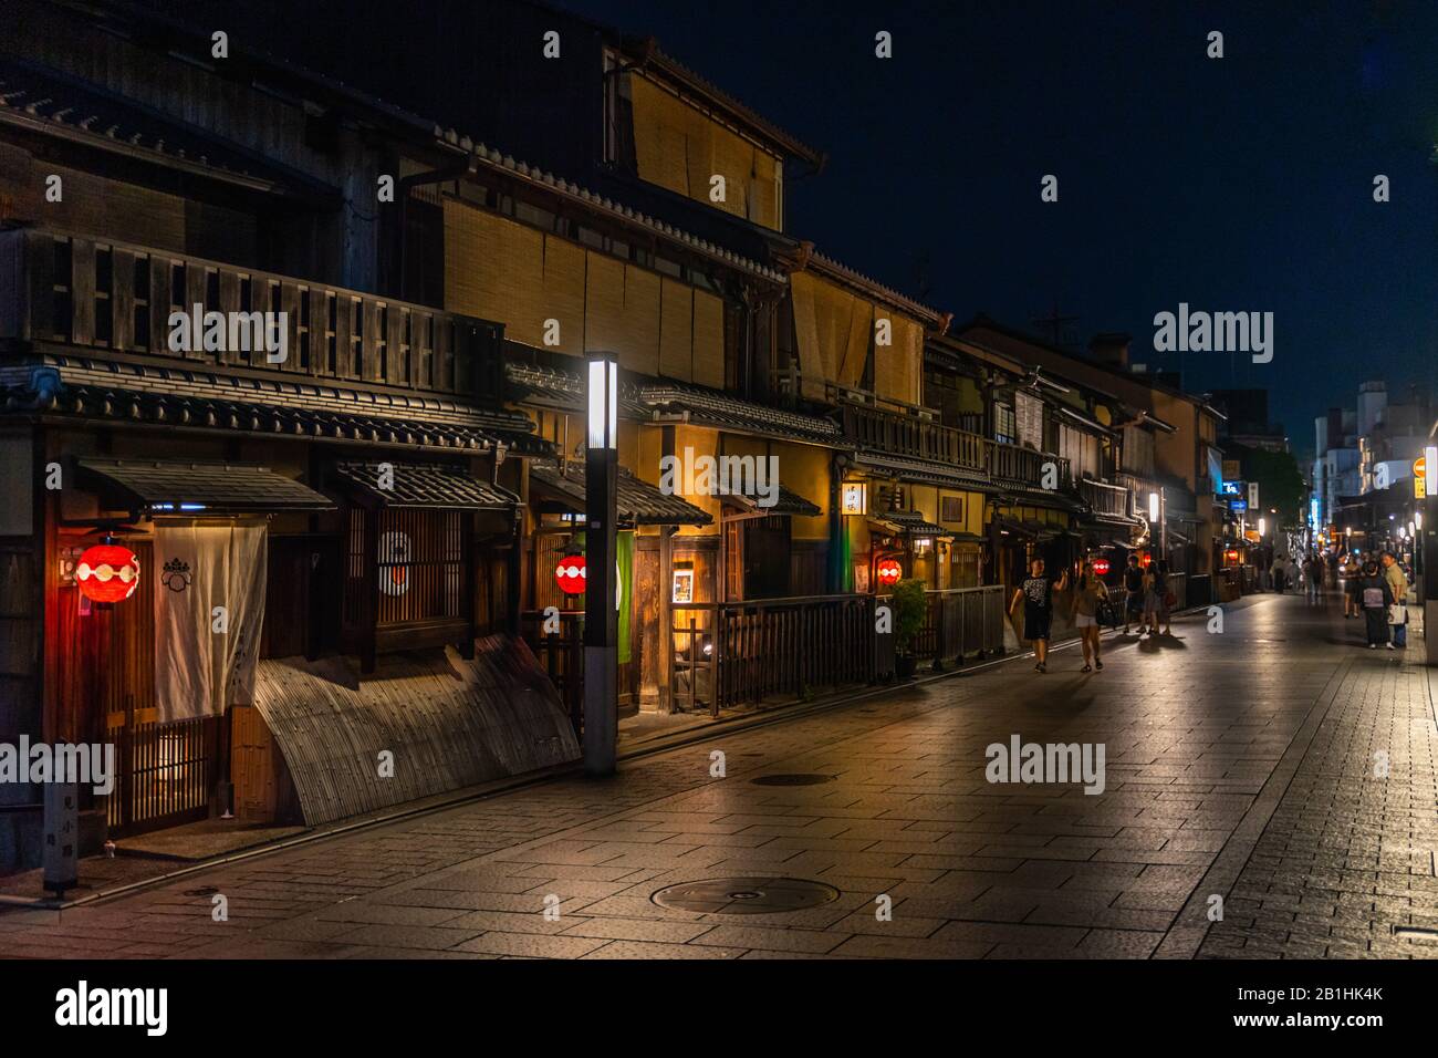
[[[827,150],[788,230],[958,320],[1057,302],[1188,387],[1268,387],[1300,449],[1366,377],[1438,383],[1438,4],[559,1]],[[1273,311],[1273,363],[1153,353],[1181,301]]]

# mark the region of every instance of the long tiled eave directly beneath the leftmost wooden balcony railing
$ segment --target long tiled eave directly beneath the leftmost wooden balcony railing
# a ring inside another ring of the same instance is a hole
[[[473,423],[436,422],[401,415],[355,415],[328,406],[272,404],[234,399],[236,390],[207,384],[129,389],[96,381],[30,379],[6,384],[0,377],[0,416],[65,416],[141,426],[240,430],[276,438],[401,445],[485,452],[505,445],[518,455],[549,455],[552,446],[531,435]],[[361,404],[364,406],[364,404]]]

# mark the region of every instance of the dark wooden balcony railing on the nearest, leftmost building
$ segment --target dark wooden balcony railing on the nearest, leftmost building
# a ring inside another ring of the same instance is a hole
[[[201,320],[285,312],[285,360],[206,350],[200,335],[171,350],[171,312],[193,317],[194,305]],[[502,338],[499,324],[321,282],[79,235],[0,232],[0,340],[493,400]]]

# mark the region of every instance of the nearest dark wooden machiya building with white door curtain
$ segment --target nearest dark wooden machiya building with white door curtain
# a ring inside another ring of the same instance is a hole
[[[575,759],[509,638],[523,465],[555,449],[503,403],[500,322],[381,292],[403,226],[377,174],[467,151],[303,72],[256,88],[207,36],[22,7],[0,52],[0,741],[116,746],[86,846]],[[35,861],[37,803],[0,789],[4,867]]]

